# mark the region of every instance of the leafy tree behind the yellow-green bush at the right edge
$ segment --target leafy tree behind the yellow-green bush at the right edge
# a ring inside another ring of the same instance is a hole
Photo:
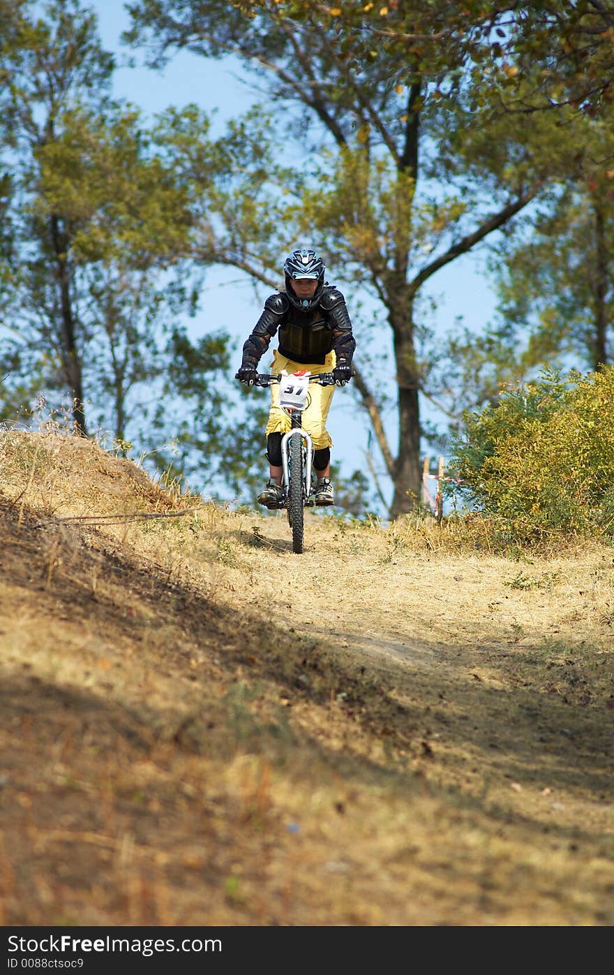
[[[528,222],[491,251],[498,315],[479,334],[459,329],[437,371],[458,431],[468,412],[540,370],[595,370],[612,361],[614,144],[611,109],[568,107],[545,141],[551,185]],[[533,135],[527,136],[533,138]],[[512,228],[510,228],[512,230]]]

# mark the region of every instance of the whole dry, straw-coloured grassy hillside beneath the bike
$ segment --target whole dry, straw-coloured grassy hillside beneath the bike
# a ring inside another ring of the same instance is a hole
[[[614,923],[612,549],[0,471],[0,923]]]

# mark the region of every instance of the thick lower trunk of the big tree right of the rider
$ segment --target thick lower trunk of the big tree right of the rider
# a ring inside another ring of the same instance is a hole
[[[418,375],[411,322],[395,329],[394,347],[399,384],[399,450],[390,509],[393,520],[420,504],[422,486]]]

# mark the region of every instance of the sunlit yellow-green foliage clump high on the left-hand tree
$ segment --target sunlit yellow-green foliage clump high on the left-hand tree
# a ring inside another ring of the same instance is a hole
[[[82,105],[62,113],[53,141],[34,146],[42,221],[61,214],[79,264],[123,260],[136,269],[168,261],[191,223],[185,183],[160,158],[138,113]]]

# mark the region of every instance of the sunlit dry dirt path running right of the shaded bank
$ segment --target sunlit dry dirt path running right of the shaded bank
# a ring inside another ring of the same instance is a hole
[[[502,917],[512,884],[525,903],[508,904],[508,922],[611,923],[609,550],[515,563],[420,552],[401,534],[373,539],[314,520],[311,546],[291,558],[288,529],[276,528],[274,548],[251,555],[254,603],[365,668],[386,699],[380,731],[404,737],[425,792],[451,797],[459,821],[476,816],[473,839],[424,840],[437,843],[452,884],[459,855],[481,863],[481,914],[476,904],[462,914]]]

